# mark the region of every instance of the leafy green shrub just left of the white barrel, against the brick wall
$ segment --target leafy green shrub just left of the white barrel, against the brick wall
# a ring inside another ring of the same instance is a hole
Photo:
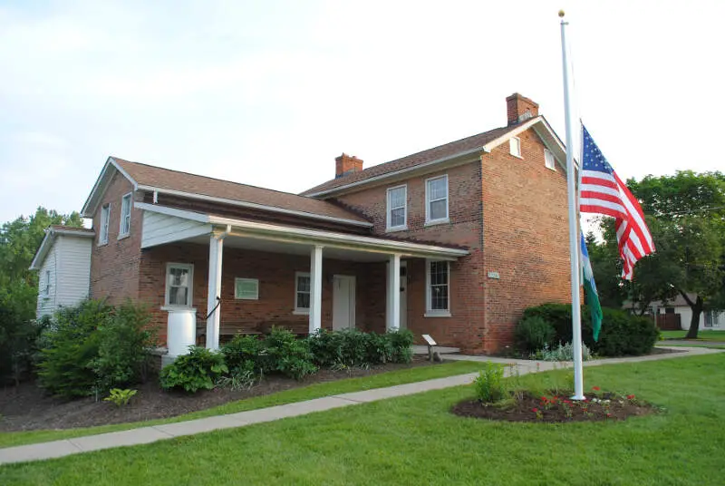
[[[145,378],[150,352],[156,344],[155,334],[147,328],[150,314],[143,306],[131,301],[106,316],[98,329],[98,355],[91,368],[96,387],[105,392]]]

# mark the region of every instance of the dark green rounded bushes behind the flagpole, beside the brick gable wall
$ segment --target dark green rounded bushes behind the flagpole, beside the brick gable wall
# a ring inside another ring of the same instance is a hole
[[[599,341],[594,341],[589,309],[582,307],[582,338],[585,345],[596,355],[625,356],[645,355],[652,351],[657,342],[658,330],[651,319],[641,316],[630,316],[619,309],[602,308],[603,320]],[[524,311],[524,318],[541,317],[556,331],[555,341],[571,343],[572,313],[571,306],[566,304],[544,304],[529,307]]]

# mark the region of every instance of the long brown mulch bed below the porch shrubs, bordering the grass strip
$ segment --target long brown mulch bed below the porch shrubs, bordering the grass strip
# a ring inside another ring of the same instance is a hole
[[[300,382],[284,376],[268,375],[250,390],[241,392],[227,389],[203,390],[197,394],[164,392],[158,382],[150,381],[133,387],[138,393],[131,398],[128,405],[121,407],[109,402],[95,402],[92,397],[61,400],[44,394],[34,383],[24,383],[18,387],[7,386],[0,389],[0,432],[71,429],[173,417],[308,384],[438,364],[432,364],[425,358],[426,356],[413,356],[409,364],[381,364],[369,369],[353,368],[349,372],[320,370]]]

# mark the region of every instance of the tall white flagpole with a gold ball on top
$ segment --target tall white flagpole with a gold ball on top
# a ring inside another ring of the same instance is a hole
[[[572,345],[574,346],[574,396],[573,400],[584,400],[584,376],[582,364],[582,307],[579,302],[579,227],[576,220],[576,184],[574,167],[574,143],[571,105],[569,101],[569,63],[566,53],[566,25],[564,11],[561,17],[561,55],[564,68],[564,114],[566,128],[566,192],[569,199],[569,256],[572,271]]]

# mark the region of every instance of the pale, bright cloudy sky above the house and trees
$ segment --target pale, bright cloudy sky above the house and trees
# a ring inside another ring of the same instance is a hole
[[[0,0],[0,222],[80,210],[108,156],[275,190],[575,112],[623,178],[725,170],[725,2]]]

